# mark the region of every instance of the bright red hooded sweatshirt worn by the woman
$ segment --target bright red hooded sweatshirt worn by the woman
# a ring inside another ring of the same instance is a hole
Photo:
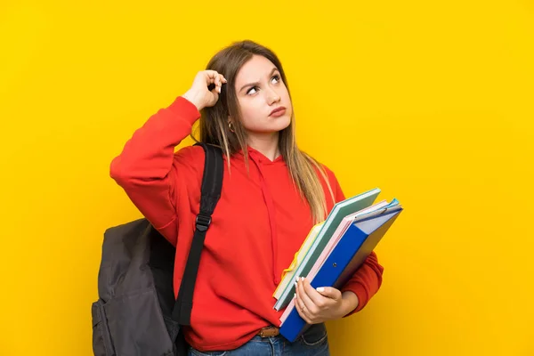
[[[204,150],[174,152],[200,117],[182,97],[160,109],[126,142],[110,166],[141,213],[176,246],[174,293],[180,287],[198,214]],[[282,271],[312,228],[310,206],[300,198],[284,159],[274,161],[249,150],[250,175],[241,152],[224,158],[223,191],[215,207],[193,297],[186,340],[200,351],[231,350],[260,328],[279,325],[283,311],[273,309],[272,294]],[[327,169],[336,201],[344,199],[335,175]],[[321,183],[328,211],[334,205]],[[382,266],[373,253],[342,288],[358,295],[360,311],[382,282]]]

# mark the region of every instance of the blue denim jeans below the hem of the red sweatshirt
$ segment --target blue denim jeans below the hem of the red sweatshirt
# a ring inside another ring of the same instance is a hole
[[[246,344],[229,351],[199,352],[190,347],[189,356],[329,356],[327,328],[314,324],[290,343],[284,336],[254,336]]]

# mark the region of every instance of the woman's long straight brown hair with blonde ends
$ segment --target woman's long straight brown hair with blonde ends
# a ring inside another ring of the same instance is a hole
[[[261,55],[267,58],[279,69],[282,80],[289,92],[286,74],[277,55],[270,49],[253,41],[236,42],[223,48],[208,62],[206,69],[216,70],[218,73],[223,74],[229,83],[235,83],[239,69],[253,55]],[[290,93],[289,97],[291,97]],[[230,131],[228,117],[233,118],[233,132]],[[234,85],[223,85],[219,100],[215,105],[201,110],[199,129],[200,142],[221,147],[226,157],[231,157],[232,154],[242,150],[245,155],[245,161],[248,162],[247,131],[241,124],[238,96]],[[192,134],[191,137],[195,140]],[[312,210],[313,222],[320,223],[326,218],[328,211],[324,190],[316,172],[319,172],[327,183],[333,201],[335,201],[334,193],[323,166],[314,158],[299,150],[296,145],[295,114],[291,117],[290,125],[279,132],[279,150],[286,162],[289,174],[301,194],[301,198],[306,199]]]

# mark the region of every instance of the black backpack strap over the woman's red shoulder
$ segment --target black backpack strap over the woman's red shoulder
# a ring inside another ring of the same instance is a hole
[[[223,188],[223,152],[218,147],[204,142],[195,143],[202,146],[206,154],[204,161],[204,175],[200,197],[200,211],[197,215],[195,235],[191,243],[190,254],[183,271],[182,283],[178,291],[178,298],[174,304],[173,320],[180,325],[190,325],[191,309],[193,307],[193,292],[200,263],[200,254],[204,247],[206,231],[211,224],[211,215],[221,198]],[[180,238],[179,238],[180,239]]]

